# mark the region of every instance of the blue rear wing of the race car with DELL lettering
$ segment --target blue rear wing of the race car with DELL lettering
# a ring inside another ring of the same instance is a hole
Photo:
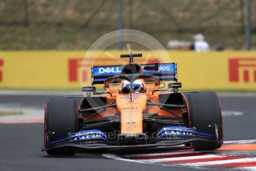
[[[142,64],[144,66],[145,64]],[[109,77],[121,74],[121,65],[111,66],[93,66],[92,68],[92,85],[103,84],[104,80]],[[160,81],[176,81],[177,65],[176,63],[161,63],[159,64],[159,71],[143,71],[143,74],[150,74],[159,77]]]

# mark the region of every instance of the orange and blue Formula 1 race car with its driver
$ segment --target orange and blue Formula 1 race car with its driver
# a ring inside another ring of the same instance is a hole
[[[129,58],[129,63],[92,67],[92,86],[83,87],[84,95],[55,97],[47,103],[45,152],[74,155],[77,149],[161,149],[182,144],[199,151],[222,146],[217,94],[179,92],[176,63],[140,65],[133,58],[142,54],[121,57]],[[97,84],[103,84],[105,91],[96,91]]]

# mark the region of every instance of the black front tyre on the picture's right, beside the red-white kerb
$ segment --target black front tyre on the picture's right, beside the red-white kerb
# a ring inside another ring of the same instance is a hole
[[[219,97],[214,92],[185,93],[188,101],[191,127],[202,132],[210,132],[215,142],[194,142],[195,151],[218,149],[223,144],[223,120]]]

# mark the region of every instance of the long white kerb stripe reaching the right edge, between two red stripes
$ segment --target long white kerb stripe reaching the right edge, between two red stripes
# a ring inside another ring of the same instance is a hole
[[[188,166],[188,167],[205,167],[210,165],[235,164],[235,163],[251,162],[251,161],[256,161],[256,158],[238,158],[238,159],[231,159],[231,160],[224,160],[224,161],[205,161],[205,162],[177,164],[177,165]]]

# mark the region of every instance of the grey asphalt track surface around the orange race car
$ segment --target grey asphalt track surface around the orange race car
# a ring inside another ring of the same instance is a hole
[[[42,108],[49,99],[50,95],[1,95],[0,104],[19,103]],[[221,96],[220,101],[224,111],[243,112],[237,116],[223,117],[225,141],[256,139],[256,96]],[[197,170],[193,167],[113,160],[100,152],[79,153],[74,157],[50,157],[41,152],[42,123],[0,124],[0,145],[0,170]],[[243,153],[256,157],[255,151]]]

